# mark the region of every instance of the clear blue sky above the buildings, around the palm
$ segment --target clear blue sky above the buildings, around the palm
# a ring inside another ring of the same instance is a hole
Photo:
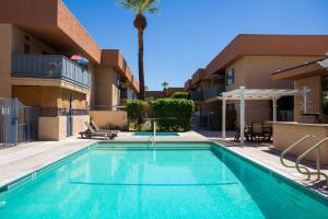
[[[118,48],[138,77],[133,13],[116,0],[63,0],[102,48]],[[327,0],[162,0],[144,33],[145,84],[183,87],[238,34],[327,34]]]

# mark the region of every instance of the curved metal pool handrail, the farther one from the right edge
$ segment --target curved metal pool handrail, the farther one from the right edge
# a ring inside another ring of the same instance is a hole
[[[296,148],[296,146],[300,146],[300,143],[302,143],[303,141],[305,141],[306,139],[314,139],[315,143],[317,143],[319,140],[317,139],[317,137],[313,136],[313,135],[307,135],[307,136],[304,136],[303,138],[301,138],[300,140],[297,140],[295,143],[293,143],[292,146],[290,146],[289,148],[286,148],[280,155],[280,162],[282,165],[286,166],[286,168],[296,168],[297,172],[303,174],[303,175],[306,175],[307,178],[306,180],[309,180],[311,178],[311,175],[318,175],[318,178],[320,178],[320,162],[319,162],[319,152],[316,153],[316,161],[317,161],[317,172],[314,173],[314,172],[311,172],[308,170],[308,168],[304,166],[304,165],[300,165],[300,163],[297,164],[295,162],[295,165],[288,165],[285,162],[284,162],[284,157],[288,152],[290,152],[292,149]],[[304,172],[304,171],[305,172]]]

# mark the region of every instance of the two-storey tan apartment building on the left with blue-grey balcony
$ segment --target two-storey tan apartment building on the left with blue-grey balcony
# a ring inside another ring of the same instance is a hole
[[[116,106],[139,92],[122,54],[99,48],[61,0],[0,4],[0,97],[39,108],[38,139],[77,135],[89,106]]]

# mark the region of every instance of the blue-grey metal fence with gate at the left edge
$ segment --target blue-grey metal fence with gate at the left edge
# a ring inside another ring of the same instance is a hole
[[[38,107],[17,99],[0,99],[0,145],[12,146],[37,139]]]

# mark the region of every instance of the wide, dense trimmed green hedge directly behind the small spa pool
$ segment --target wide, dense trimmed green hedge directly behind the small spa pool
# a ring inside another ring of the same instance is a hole
[[[150,102],[152,114],[159,118],[160,130],[180,130],[191,129],[191,116],[194,102],[185,99],[160,99]]]

